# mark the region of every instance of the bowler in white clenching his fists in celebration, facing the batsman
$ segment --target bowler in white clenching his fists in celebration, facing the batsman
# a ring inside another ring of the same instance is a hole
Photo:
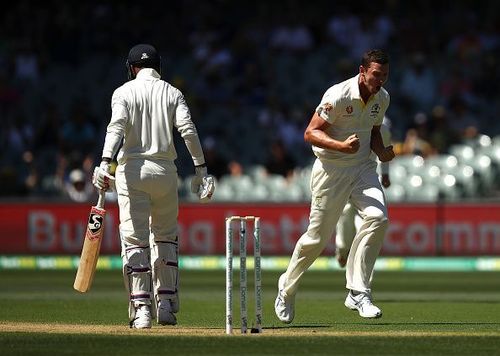
[[[363,218],[347,260],[345,306],[365,318],[382,311],[372,303],[371,274],[388,226],[382,186],[370,159],[394,158],[385,147],[380,125],[389,106],[389,93],[382,87],[389,75],[389,58],[380,50],[363,54],[359,73],[330,87],[316,108],[304,139],[316,155],[311,173],[312,202],[307,231],[295,245],[288,268],[278,281],[275,312],[291,323],[300,278],[332,237],[344,206],[350,199]]]

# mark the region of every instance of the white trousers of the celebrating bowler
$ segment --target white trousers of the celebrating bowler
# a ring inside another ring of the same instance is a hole
[[[316,159],[311,173],[309,226],[297,241],[285,272],[285,296],[297,293],[300,278],[332,238],[349,197],[363,224],[347,259],[346,288],[371,292],[371,274],[388,226],[384,192],[376,168],[377,163],[369,159],[350,167]]]

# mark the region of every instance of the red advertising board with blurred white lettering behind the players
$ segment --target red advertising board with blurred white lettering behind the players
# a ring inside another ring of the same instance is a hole
[[[118,208],[108,204],[106,210],[101,253],[119,254]],[[79,254],[89,211],[86,204],[1,203],[0,254]],[[181,205],[181,254],[223,254],[225,217],[231,215],[260,216],[262,254],[290,255],[307,228],[309,205]],[[391,205],[389,217],[382,255],[500,255],[500,204]],[[332,238],[324,254],[334,248]]]

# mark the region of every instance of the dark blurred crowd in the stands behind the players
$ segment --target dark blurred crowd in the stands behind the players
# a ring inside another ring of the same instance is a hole
[[[0,14],[0,197],[93,198],[113,90],[131,46],[152,43],[221,177],[292,175],[303,131],[361,53],[391,56],[397,154],[424,157],[500,134],[500,5],[482,1],[9,3]],[[179,138],[177,138],[179,139]],[[180,177],[192,174],[178,145]]]

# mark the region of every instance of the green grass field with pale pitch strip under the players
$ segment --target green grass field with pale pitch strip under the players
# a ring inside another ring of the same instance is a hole
[[[311,270],[284,325],[273,310],[279,272],[266,270],[264,330],[248,335],[237,329],[237,272],[235,333],[224,333],[224,274],[182,270],[178,325],[131,330],[119,270],[98,270],[86,294],[72,289],[71,269],[0,270],[0,355],[500,354],[498,272],[379,271],[374,297],[384,315],[365,320],[343,306],[342,271]]]

